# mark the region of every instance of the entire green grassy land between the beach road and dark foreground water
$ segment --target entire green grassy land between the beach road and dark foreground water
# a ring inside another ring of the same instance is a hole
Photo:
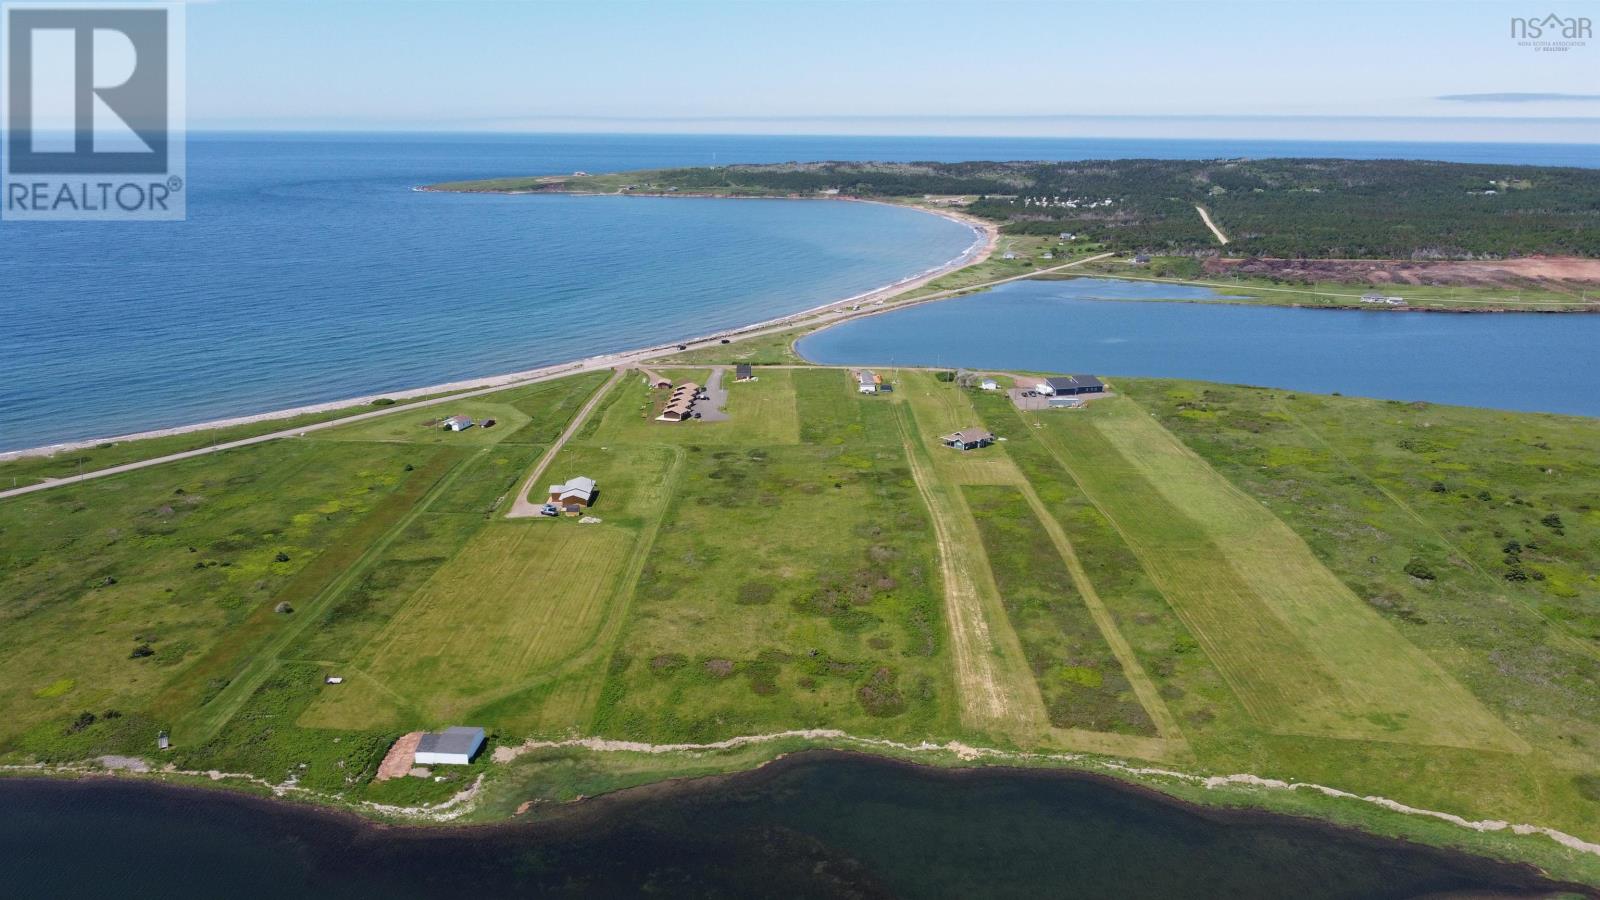
[[[928,372],[757,375],[728,421],[611,386],[547,471],[600,482],[598,524],[502,512],[606,373],[0,501],[0,761],[154,756],[165,729],[184,767],[392,802],[490,773],[509,809],[557,790],[533,772],[776,749],[370,773],[448,724],[842,729],[1600,838],[1594,420],[1139,380],[1021,413]],[[454,412],[499,424],[430,424]],[[938,442],[971,426],[1005,440]]]

